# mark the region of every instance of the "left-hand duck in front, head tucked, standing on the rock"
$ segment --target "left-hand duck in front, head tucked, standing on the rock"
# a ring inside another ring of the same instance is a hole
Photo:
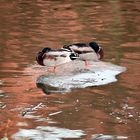
[[[65,64],[79,58],[77,53],[69,49],[53,50],[45,47],[36,56],[36,61],[41,66],[53,67],[53,71],[57,66]]]

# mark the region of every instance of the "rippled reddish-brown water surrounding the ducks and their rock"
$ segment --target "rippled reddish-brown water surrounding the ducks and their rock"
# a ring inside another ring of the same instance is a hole
[[[0,1],[0,138],[140,137],[140,2]],[[118,81],[46,95],[37,88],[36,53],[45,46],[97,41],[104,61],[126,67]]]

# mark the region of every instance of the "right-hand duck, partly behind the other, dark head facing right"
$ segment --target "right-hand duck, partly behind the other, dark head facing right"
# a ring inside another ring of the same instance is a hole
[[[85,62],[88,65],[88,61],[98,61],[103,59],[104,52],[96,42],[89,43],[75,43],[70,45],[64,45],[63,50],[70,50],[79,55],[78,59]]]

